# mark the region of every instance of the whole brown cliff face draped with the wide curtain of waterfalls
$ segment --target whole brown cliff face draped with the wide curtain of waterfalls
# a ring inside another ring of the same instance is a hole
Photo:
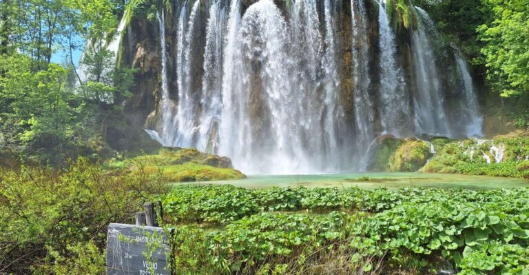
[[[245,172],[363,170],[376,136],[481,134],[466,62],[428,15],[393,1],[169,1],[133,17],[129,120]]]

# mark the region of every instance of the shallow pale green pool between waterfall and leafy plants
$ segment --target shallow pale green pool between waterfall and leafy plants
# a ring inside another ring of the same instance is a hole
[[[367,180],[366,178],[369,178]],[[231,184],[246,188],[266,187],[462,187],[469,189],[490,189],[501,187],[529,187],[529,181],[496,176],[469,176],[461,174],[428,173],[340,173],[309,175],[256,175],[247,179],[230,181],[207,181],[205,184]]]

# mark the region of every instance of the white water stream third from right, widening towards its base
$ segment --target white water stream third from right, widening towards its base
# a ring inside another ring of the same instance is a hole
[[[385,1],[379,1],[378,25],[380,43],[380,99],[382,101],[380,121],[384,133],[406,137],[411,129],[404,127],[412,116],[402,67],[397,65],[397,43],[386,14]]]

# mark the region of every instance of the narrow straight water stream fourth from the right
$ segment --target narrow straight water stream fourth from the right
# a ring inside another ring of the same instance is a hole
[[[366,15],[363,0],[351,0],[353,23],[353,84],[354,113],[357,130],[357,151],[368,147],[374,137],[373,123],[375,120],[374,105],[369,96],[371,78],[369,77],[369,19]],[[357,152],[359,154],[360,152]],[[367,165],[367,152],[362,153],[360,170]]]

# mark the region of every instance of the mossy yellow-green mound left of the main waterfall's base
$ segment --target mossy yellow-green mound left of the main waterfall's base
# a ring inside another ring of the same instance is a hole
[[[158,154],[136,156],[133,159],[110,163],[137,170],[138,166],[149,174],[163,176],[169,182],[220,181],[245,179],[235,170],[226,156],[206,154],[193,148],[163,147]]]

